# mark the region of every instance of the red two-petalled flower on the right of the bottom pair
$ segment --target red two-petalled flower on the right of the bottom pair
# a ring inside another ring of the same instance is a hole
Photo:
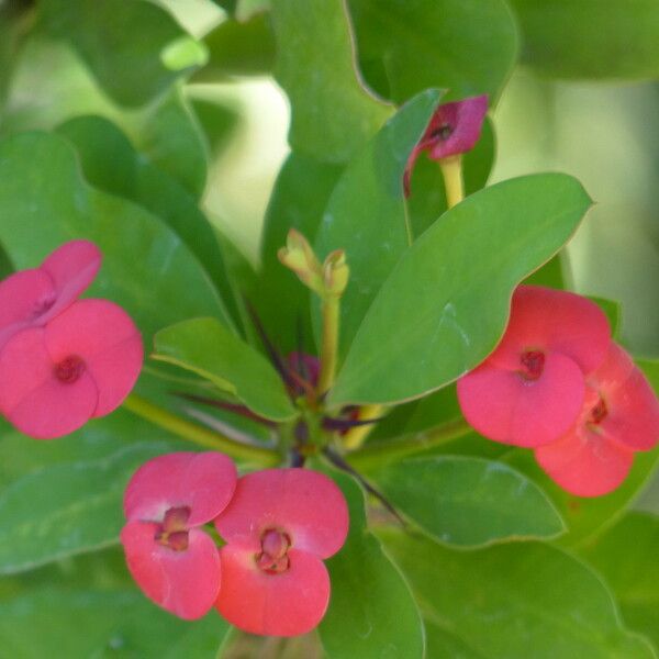
[[[215,526],[227,541],[220,551],[220,613],[253,634],[313,629],[330,601],[322,559],[340,549],[348,532],[347,505],[334,482],[308,469],[249,473]]]

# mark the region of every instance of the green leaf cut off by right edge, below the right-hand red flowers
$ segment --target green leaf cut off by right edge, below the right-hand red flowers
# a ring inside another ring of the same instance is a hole
[[[659,648],[659,517],[632,512],[582,550],[606,579],[625,621]]]

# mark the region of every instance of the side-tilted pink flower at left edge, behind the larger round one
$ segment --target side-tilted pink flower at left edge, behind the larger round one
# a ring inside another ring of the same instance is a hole
[[[101,265],[99,248],[71,241],[41,267],[21,270],[0,282],[0,348],[19,331],[41,327],[71,304]]]

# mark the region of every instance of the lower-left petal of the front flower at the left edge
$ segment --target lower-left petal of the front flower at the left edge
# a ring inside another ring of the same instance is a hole
[[[92,415],[99,399],[91,376],[55,378],[45,330],[23,330],[0,353],[0,409],[22,433],[51,439],[72,433]]]

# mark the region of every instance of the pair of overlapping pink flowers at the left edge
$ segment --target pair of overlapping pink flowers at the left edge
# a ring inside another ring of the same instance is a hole
[[[139,332],[107,300],[79,300],[101,265],[71,241],[0,282],[0,412],[38,439],[118,407],[142,368]]]

